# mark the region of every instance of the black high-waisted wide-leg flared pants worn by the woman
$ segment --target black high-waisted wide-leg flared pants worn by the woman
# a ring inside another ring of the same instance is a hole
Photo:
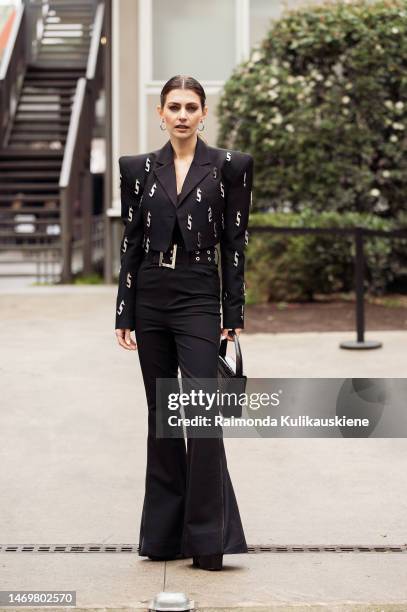
[[[222,437],[156,438],[156,378],[216,378],[220,278],[212,263],[144,258],[135,334],[148,405],[139,555],[248,552]]]

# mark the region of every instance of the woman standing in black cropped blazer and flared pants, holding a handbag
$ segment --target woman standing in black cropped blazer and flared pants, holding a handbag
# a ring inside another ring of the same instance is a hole
[[[121,347],[138,349],[148,404],[139,555],[192,556],[219,570],[223,554],[248,552],[223,439],[187,437],[185,448],[184,438],[156,438],[156,379],[176,378],[178,367],[182,377],[216,379],[221,336],[233,340],[229,330],[244,328],[253,158],[199,137],[208,108],[194,78],[171,78],[160,102],[167,143],[119,158],[125,230],[115,331]]]

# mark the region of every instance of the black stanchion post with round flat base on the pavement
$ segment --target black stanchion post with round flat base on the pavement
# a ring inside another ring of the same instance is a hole
[[[364,303],[364,253],[363,227],[355,227],[355,292],[356,292],[356,340],[340,343],[346,349],[380,348],[381,342],[365,340],[365,303]]]

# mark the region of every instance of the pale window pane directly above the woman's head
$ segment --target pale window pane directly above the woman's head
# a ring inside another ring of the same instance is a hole
[[[153,79],[228,78],[235,64],[235,0],[153,0]]]

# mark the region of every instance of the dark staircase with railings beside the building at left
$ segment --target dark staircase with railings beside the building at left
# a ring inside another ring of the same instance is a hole
[[[70,281],[92,268],[92,242],[103,236],[92,217],[90,145],[104,8],[31,0],[16,16],[0,72],[0,276]]]

